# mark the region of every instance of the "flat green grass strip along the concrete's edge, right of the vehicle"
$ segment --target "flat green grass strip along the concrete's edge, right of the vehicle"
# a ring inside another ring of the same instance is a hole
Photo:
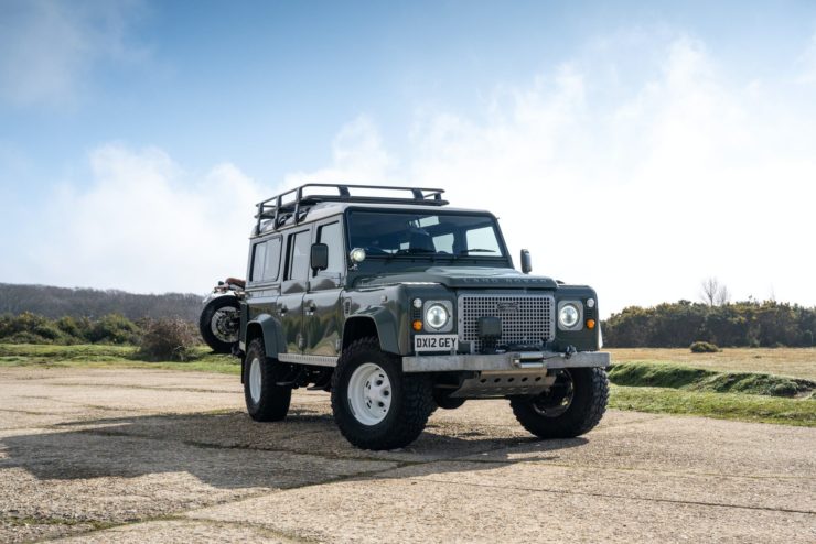
[[[711,393],[668,388],[612,385],[609,406],[655,414],[683,414],[816,427],[816,399]]]

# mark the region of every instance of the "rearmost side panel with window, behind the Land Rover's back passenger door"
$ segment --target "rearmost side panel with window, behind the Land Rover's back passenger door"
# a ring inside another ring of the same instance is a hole
[[[280,295],[281,246],[280,235],[258,238],[251,242],[245,323],[261,314],[272,317],[277,314],[278,295]]]

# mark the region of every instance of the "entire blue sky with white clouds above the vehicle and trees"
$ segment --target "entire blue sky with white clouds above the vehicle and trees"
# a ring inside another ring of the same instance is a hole
[[[494,209],[606,311],[816,304],[813,2],[0,0],[0,281],[206,290],[343,177]]]

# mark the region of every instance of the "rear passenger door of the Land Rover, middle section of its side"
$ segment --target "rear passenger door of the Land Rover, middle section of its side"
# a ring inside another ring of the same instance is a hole
[[[278,296],[278,318],[283,326],[287,353],[303,352],[303,294],[309,283],[309,252],[312,244],[311,227],[286,235],[287,261],[284,278]]]

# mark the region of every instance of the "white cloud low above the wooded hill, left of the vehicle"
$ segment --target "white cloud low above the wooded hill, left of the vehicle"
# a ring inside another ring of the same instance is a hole
[[[236,166],[194,176],[160,150],[120,145],[90,163],[88,188],[64,185],[43,210],[15,281],[162,293],[244,275],[254,205],[269,195]]]

